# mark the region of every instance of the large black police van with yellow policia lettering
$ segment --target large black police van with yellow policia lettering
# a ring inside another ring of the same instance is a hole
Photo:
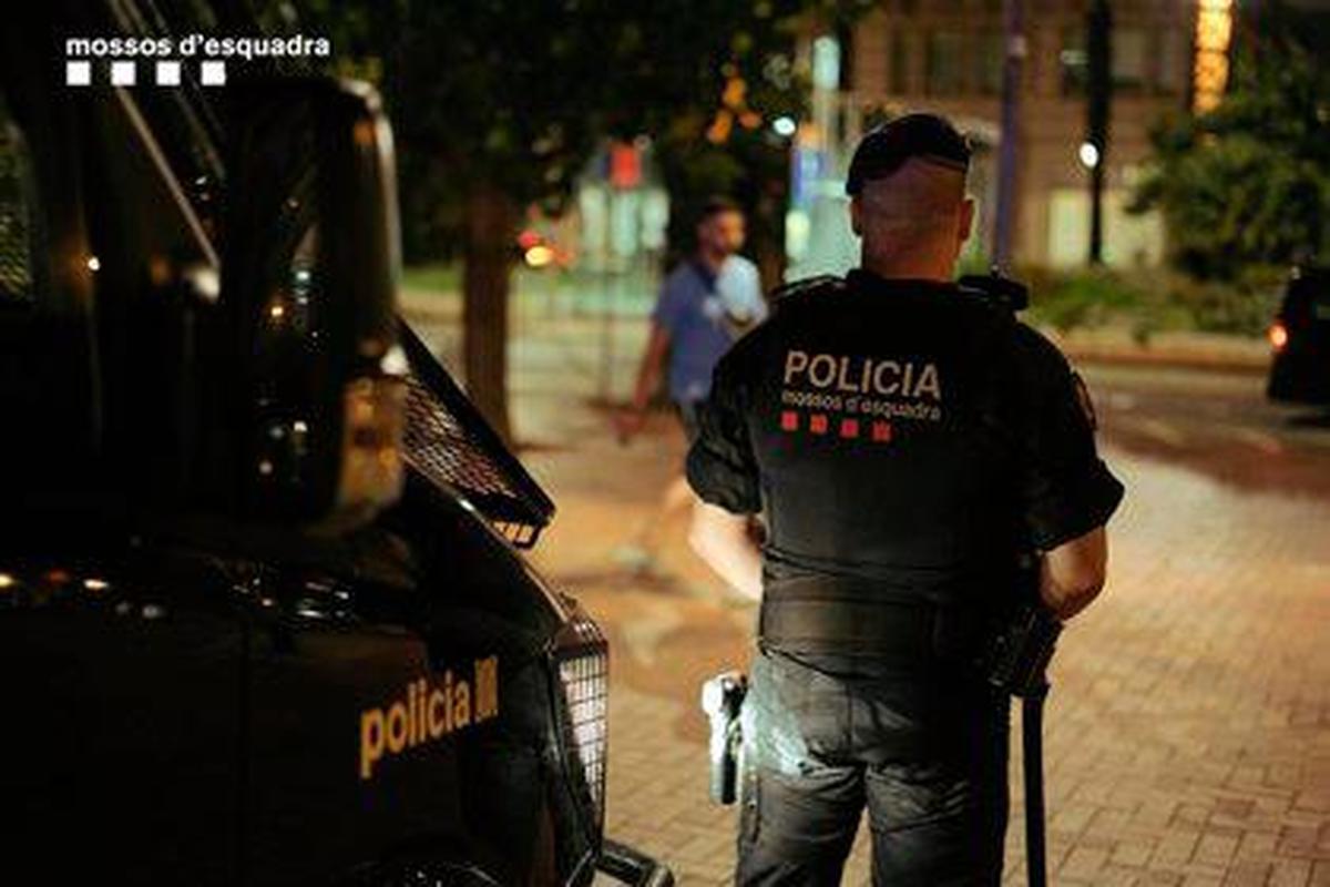
[[[0,37],[0,882],[669,884],[553,504],[396,315],[374,92],[66,66],[243,5]]]

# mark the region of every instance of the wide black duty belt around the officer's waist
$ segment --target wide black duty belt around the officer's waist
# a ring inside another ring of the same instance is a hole
[[[876,582],[786,580],[762,596],[758,636],[787,653],[872,656],[903,665],[967,658],[984,612]]]

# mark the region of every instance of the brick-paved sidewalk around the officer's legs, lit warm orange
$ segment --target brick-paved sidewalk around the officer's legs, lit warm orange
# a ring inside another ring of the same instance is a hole
[[[720,884],[733,821],[706,802],[694,696],[745,661],[751,610],[720,597],[681,519],[661,574],[614,560],[681,453],[660,426],[630,449],[583,436],[528,459],[561,508],[537,561],[612,638],[612,832],[684,884]],[[1069,626],[1052,672],[1052,883],[1330,886],[1330,504],[1108,456],[1130,491],[1111,586]],[[1015,759],[1012,787],[1005,882],[1017,884]],[[867,883],[864,850],[861,835],[846,883]]]

